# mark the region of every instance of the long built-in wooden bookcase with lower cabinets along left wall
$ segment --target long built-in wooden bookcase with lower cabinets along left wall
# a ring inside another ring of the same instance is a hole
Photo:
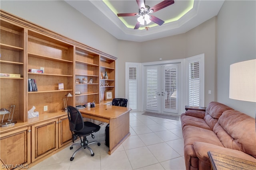
[[[68,115],[63,112],[66,94],[72,94],[67,100],[71,106],[105,104],[106,90],[112,90],[114,97],[116,58],[3,10],[0,16],[0,73],[18,75],[0,76],[0,108],[15,105],[13,120],[17,121],[0,127],[1,164],[30,166],[72,141]],[[41,68],[43,73],[29,72]],[[104,72],[108,80],[100,78]],[[83,78],[88,82],[82,83]],[[29,79],[36,80],[37,90],[30,91]],[[101,87],[100,82],[108,86]],[[59,83],[64,90],[59,90]],[[33,106],[39,116],[28,119]]]

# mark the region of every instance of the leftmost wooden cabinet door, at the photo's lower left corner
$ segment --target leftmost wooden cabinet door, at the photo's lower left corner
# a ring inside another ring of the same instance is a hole
[[[30,127],[23,127],[0,135],[1,168],[14,169],[30,164]],[[19,166],[19,167],[16,167]]]

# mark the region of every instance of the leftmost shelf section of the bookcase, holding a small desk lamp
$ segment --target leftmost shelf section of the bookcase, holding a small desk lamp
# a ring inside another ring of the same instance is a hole
[[[13,120],[23,122],[26,121],[24,27],[1,20],[0,28],[0,73],[20,74],[20,78],[0,77],[0,107],[8,109],[10,105],[15,105]],[[8,116],[4,117],[4,122]]]

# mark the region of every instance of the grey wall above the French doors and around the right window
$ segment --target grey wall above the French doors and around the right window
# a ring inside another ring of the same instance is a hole
[[[216,20],[213,17],[184,34],[142,43],[142,62],[159,61],[159,58],[163,61],[184,59],[204,53],[205,106],[217,98]],[[212,90],[212,94],[208,94],[208,90]]]

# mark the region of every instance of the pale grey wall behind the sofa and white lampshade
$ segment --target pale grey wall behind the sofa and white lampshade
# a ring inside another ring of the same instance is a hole
[[[225,1],[218,14],[218,102],[255,117],[255,102],[229,99],[230,64],[256,58],[256,1]]]

